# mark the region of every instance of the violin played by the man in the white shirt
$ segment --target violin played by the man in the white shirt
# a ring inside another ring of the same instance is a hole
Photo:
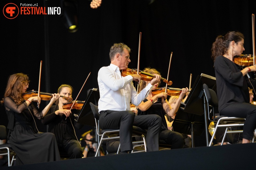
[[[121,70],[121,76],[123,76],[123,77],[125,77],[127,75],[133,75],[133,74],[137,74],[137,69],[127,68],[125,70]],[[151,81],[154,77],[156,77],[153,74],[149,74],[149,73],[144,72],[144,71],[140,71],[139,75],[142,76],[141,80],[144,80],[144,81]],[[161,80],[169,86],[172,85],[172,81],[168,82],[166,79],[164,79],[162,77],[161,77]]]

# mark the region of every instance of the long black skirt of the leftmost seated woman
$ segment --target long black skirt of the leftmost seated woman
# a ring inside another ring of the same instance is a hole
[[[35,134],[29,125],[16,125],[8,143],[16,153],[15,165],[60,160],[55,135],[53,133]]]

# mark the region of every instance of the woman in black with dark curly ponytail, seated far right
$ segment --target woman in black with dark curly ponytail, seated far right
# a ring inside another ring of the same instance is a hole
[[[251,83],[247,73],[256,71],[256,66],[241,68],[233,62],[234,56],[240,56],[244,50],[244,35],[232,31],[216,38],[211,57],[214,60],[220,115],[246,118],[243,143],[250,143],[256,128],[256,106],[250,104],[248,86]]]

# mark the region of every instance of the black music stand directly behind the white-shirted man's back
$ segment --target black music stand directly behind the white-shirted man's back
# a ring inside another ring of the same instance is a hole
[[[81,111],[78,115],[75,115],[75,120],[77,121],[77,123],[96,127],[90,102],[92,102],[95,105],[98,105],[99,98],[100,94],[98,89],[93,88],[89,91]]]

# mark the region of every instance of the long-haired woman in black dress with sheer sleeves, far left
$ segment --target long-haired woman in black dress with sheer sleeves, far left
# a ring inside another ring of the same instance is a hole
[[[39,112],[32,101],[40,104],[40,97],[34,96],[27,100],[22,97],[28,85],[27,75],[23,73],[11,75],[8,79],[4,99],[1,100],[8,117],[7,143],[11,144],[16,153],[15,165],[58,161],[60,154],[55,135],[53,133],[36,134],[32,128],[35,123],[34,117],[43,119],[58,96],[52,94],[50,103]]]

